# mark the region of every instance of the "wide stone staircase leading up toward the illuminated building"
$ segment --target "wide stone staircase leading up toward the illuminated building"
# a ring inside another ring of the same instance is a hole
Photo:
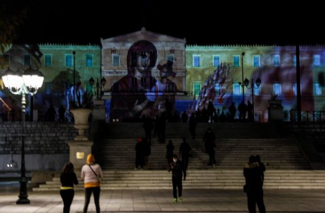
[[[208,166],[202,137],[208,127],[217,136],[216,167]],[[311,170],[308,158],[295,138],[279,138],[271,124],[198,124],[197,138],[190,139],[187,124],[167,124],[166,143],[152,140],[149,162],[151,170],[135,170],[135,145],[144,136],[142,124],[109,124],[108,137],[98,144],[97,160],[104,171],[102,189],[171,189],[171,173],[165,158],[167,141],[174,143],[178,154],[182,137],[192,147],[185,189],[242,189],[243,167],[250,155],[260,155],[266,166],[265,189],[324,189],[325,170]],[[80,172],[76,172],[80,176]],[[76,190],[81,190],[83,182]],[[57,174],[52,181],[35,191],[59,190]]]

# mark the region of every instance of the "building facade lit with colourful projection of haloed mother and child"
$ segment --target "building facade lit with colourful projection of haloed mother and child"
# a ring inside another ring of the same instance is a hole
[[[227,113],[232,102],[237,108],[242,101],[239,83],[246,78],[261,80],[259,88],[254,89],[256,121],[267,122],[271,94],[278,94],[278,98],[283,100],[285,112],[296,108],[295,46],[185,44],[185,39],[143,28],[127,35],[102,39],[102,48],[97,45],[13,45],[2,55],[0,62],[3,71],[7,65],[12,70],[25,70],[32,66],[44,74],[44,84],[37,95],[39,103],[35,106],[39,110],[49,104],[56,107],[67,105],[67,93],[73,83],[72,51],[76,52],[75,82],[81,82],[85,90],[94,90],[89,79],[100,81],[104,77],[103,98],[107,114],[116,109],[121,112],[116,114],[116,118],[125,114],[123,109],[128,108],[127,113],[130,113],[132,107],[139,104],[142,104],[143,111],[136,112],[137,117],[155,117],[159,110],[165,109],[166,99],[179,113],[202,109],[209,100]],[[242,52],[245,52],[243,58]],[[325,46],[301,46],[300,67],[302,111],[325,111]],[[147,69],[145,74],[141,72],[142,68]],[[135,91],[140,96],[132,103],[121,103],[116,99],[122,93],[132,97]],[[3,91],[0,94],[4,98]],[[194,94],[196,103],[192,101]],[[245,87],[244,94],[245,102],[252,102],[252,90]],[[192,107],[188,107],[190,103]]]

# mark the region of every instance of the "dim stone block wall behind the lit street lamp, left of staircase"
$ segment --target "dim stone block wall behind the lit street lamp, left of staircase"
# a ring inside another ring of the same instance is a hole
[[[19,170],[21,162],[21,123],[0,123],[0,171]],[[73,124],[26,123],[25,161],[27,170],[60,170],[69,161],[68,141],[77,130]],[[7,168],[10,153],[16,168]]]

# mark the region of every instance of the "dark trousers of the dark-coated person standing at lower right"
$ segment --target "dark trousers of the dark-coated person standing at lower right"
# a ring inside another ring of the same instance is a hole
[[[263,189],[255,189],[247,192],[247,206],[250,213],[256,213],[256,204],[259,213],[266,213],[263,201]]]

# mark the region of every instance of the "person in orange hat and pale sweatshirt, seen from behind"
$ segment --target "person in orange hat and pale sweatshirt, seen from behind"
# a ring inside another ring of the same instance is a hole
[[[103,178],[101,166],[95,164],[95,157],[92,154],[87,156],[87,163],[81,169],[81,178],[84,179],[85,186],[85,205],[83,213],[87,213],[91,193],[94,194],[96,213],[100,213],[99,196],[101,193],[100,182]]]

